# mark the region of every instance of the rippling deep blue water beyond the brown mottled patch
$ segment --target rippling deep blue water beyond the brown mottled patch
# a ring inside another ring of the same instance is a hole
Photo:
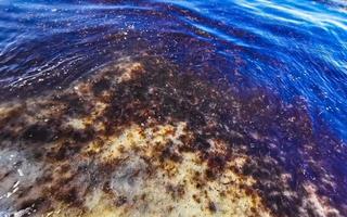
[[[61,88],[124,53],[214,68],[241,87],[300,99],[313,123],[347,139],[344,0],[0,0],[4,99]]]

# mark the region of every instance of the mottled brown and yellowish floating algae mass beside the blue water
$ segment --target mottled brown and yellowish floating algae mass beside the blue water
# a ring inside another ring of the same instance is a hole
[[[2,216],[347,215],[346,148],[305,103],[163,60],[119,61],[0,117]]]

